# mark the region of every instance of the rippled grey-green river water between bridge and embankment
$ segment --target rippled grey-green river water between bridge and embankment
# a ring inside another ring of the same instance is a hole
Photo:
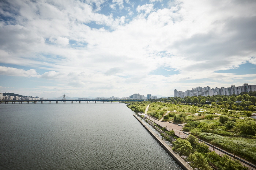
[[[124,103],[0,104],[0,169],[181,170]]]

